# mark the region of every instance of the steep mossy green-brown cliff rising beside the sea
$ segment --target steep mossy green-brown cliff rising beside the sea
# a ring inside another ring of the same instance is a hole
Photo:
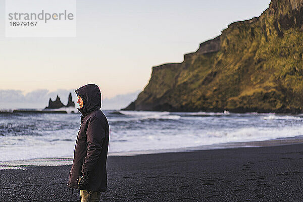
[[[272,0],[182,63],[153,67],[124,110],[303,112],[303,0]]]

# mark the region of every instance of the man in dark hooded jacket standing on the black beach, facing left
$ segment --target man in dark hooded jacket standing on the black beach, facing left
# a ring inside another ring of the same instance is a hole
[[[88,84],[75,92],[82,116],[68,187],[80,189],[82,202],[99,201],[100,192],[107,190],[109,124],[99,110],[101,93],[97,85]]]

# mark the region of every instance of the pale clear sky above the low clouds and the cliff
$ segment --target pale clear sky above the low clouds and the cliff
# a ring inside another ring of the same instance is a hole
[[[42,0],[41,0],[42,1]],[[77,1],[77,37],[6,38],[0,0],[0,90],[77,89],[110,98],[142,90],[151,67],[185,53],[228,24],[258,17],[270,1]]]

